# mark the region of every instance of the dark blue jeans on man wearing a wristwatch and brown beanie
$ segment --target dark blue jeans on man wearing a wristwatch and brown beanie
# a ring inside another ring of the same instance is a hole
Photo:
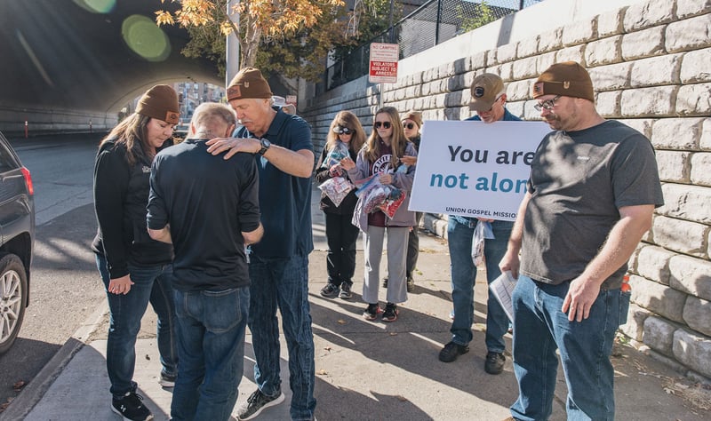
[[[313,419],[316,399],[314,336],[308,306],[308,258],[260,258],[252,254],[250,279],[249,327],[257,360],[254,381],[261,393],[268,396],[281,393],[278,306],[289,350],[292,419]]]

